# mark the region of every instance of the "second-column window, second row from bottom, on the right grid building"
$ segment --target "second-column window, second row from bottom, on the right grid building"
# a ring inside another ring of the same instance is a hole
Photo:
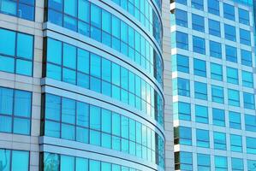
[[[196,144],[198,147],[209,148],[210,138],[209,131],[203,129],[196,129]]]

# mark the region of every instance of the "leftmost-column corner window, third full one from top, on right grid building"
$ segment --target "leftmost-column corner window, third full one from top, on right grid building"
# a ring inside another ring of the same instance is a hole
[[[175,55],[172,56],[172,71],[181,71],[189,73],[189,58],[188,56]]]

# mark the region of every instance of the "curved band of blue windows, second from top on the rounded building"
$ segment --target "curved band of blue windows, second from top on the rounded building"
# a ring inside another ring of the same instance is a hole
[[[140,33],[138,27],[129,26],[118,16],[86,0],[59,3],[49,0],[47,5],[45,21],[79,32],[119,51],[144,68],[163,86],[163,61],[159,55],[162,50],[145,34]]]

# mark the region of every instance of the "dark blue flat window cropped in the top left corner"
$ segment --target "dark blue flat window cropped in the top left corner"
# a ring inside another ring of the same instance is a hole
[[[0,0],[0,13],[34,21],[35,0]],[[3,37],[1,37],[3,38]]]

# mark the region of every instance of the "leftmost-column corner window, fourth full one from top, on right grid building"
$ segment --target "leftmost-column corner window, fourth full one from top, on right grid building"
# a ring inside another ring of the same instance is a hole
[[[189,80],[177,78],[173,80],[173,95],[181,95],[190,97],[190,82]]]

